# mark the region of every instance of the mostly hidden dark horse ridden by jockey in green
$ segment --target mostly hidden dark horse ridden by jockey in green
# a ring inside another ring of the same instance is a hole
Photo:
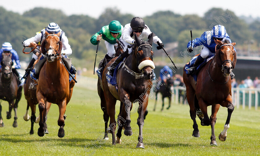
[[[121,46],[118,44],[118,47],[116,48],[115,47],[115,57],[118,57],[120,54],[122,54],[124,52],[124,50],[121,48]],[[106,58],[103,58],[101,60],[102,61],[105,61],[105,66],[107,65],[107,63],[110,61],[110,60],[106,60]],[[100,64],[101,62],[99,63],[98,67],[100,67]],[[108,120],[109,120],[109,115],[107,114],[107,109],[106,109],[106,99],[104,97],[104,91],[103,91],[103,85],[102,85],[102,80],[101,78],[98,77],[98,95],[100,97],[100,106],[101,106],[101,109],[103,111],[103,119],[104,119],[104,122],[105,122],[105,135],[104,135],[104,139],[108,140],[108,135],[107,135],[107,124],[108,124]]]

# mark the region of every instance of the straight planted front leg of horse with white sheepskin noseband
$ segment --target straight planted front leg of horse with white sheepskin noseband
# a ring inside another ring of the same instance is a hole
[[[137,118],[137,124],[139,126],[139,136],[138,136],[138,143],[137,148],[145,148],[143,143],[143,126],[144,126],[144,114],[146,107],[148,105],[148,96],[145,98],[144,101],[139,102],[139,117]]]

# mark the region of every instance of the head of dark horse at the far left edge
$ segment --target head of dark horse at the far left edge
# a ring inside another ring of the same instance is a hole
[[[9,56],[4,56],[1,61],[1,72],[5,79],[10,79],[12,76],[12,66],[14,62]]]

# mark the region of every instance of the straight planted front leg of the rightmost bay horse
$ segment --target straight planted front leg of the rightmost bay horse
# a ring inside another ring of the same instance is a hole
[[[216,136],[215,136],[215,123],[217,120],[217,113],[219,111],[219,104],[212,105],[211,109],[211,115],[210,115],[210,126],[211,126],[211,136],[210,136],[210,145],[218,146],[216,142]]]

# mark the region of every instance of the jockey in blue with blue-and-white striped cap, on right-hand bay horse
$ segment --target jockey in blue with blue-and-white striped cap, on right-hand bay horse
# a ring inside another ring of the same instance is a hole
[[[205,31],[200,38],[195,38],[193,41],[188,42],[187,45],[187,51],[191,53],[193,51],[193,47],[197,46],[203,46],[201,49],[201,53],[198,55],[195,63],[193,64],[193,67],[188,69],[188,74],[191,75],[195,71],[195,67],[200,65],[205,58],[207,58],[210,55],[215,55],[215,47],[218,44],[216,42],[217,40],[220,40],[224,42],[225,40],[228,40],[230,43],[231,40],[226,32],[226,29],[222,25],[214,26],[211,31]],[[234,48],[236,51],[236,49]],[[235,77],[234,73],[230,73],[231,79]]]

